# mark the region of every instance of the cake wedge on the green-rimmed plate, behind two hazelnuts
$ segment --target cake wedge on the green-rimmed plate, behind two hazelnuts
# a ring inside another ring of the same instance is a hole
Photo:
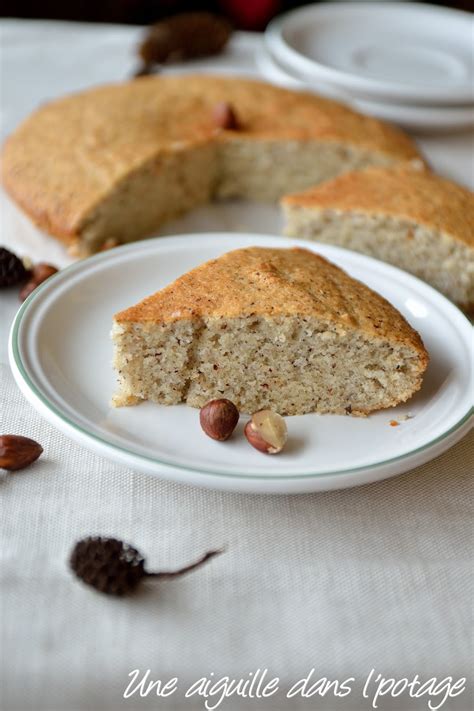
[[[385,299],[305,249],[229,252],[116,314],[115,405],[365,415],[416,392],[420,336]]]

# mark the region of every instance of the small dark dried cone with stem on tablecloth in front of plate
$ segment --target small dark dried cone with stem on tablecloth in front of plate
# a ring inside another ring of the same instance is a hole
[[[116,538],[90,536],[78,541],[71,553],[69,565],[87,585],[107,595],[132,593],[144,577],[174,578],[198,568],[221,551],[209,551],[195,563],[171,572],[150,573],[145,559],[128,543]]]

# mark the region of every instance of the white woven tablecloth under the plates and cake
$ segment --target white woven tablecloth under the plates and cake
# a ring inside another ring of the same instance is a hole
[[[47,98],[128,76],[137,36],[132,28],[4,21],[2,134]],[[252,70],[257,41],[238,37],[221,64]],[[471,135],[420,143],[438,170],[472,184]],[[0,207],[2,244],[68,262],[3,196]],[[6,353],[17,306],[14,294],[1,295],[0,431],[33,437],[45,452],[0,480],[4,711],[202,709],[203,697],[184,698],[192,682],[249,679],[259,668],[280,678],[278,692],[266,701],[231,697],[219,708],[352,711],[372,708],[361,693],[372,668],[396,679],[469,677],[472,433],[410,474],[353,490],[243,496],[160,481],[81,449],[26,403]],[[187,578],[147,583],[118,600],[68,572],[73,542],[92,533],[135,544],[151,569],[222,544],[227,551]],[[313,668],[313,681],[355,677],[352,692],[339,701],[287,699]],[[178,677],[178,691],[123,699],[134,669],[150,669],[153,680]],[[378,708],[424,710],[427,700],[384,697]],[[471,704],[468,688],[441,708]]]

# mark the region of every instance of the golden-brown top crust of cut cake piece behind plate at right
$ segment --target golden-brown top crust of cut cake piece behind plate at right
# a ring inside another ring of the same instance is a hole
[[[474,246],[474,194],[428,170],[366,168],[287,195],[282,204],[407,218]]]

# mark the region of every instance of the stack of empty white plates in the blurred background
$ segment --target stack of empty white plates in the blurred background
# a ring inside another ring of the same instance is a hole
[[[281,15],[257,61],[279,84],[412,129],[474,125],[474,20],[411,2],[334,2]]]

